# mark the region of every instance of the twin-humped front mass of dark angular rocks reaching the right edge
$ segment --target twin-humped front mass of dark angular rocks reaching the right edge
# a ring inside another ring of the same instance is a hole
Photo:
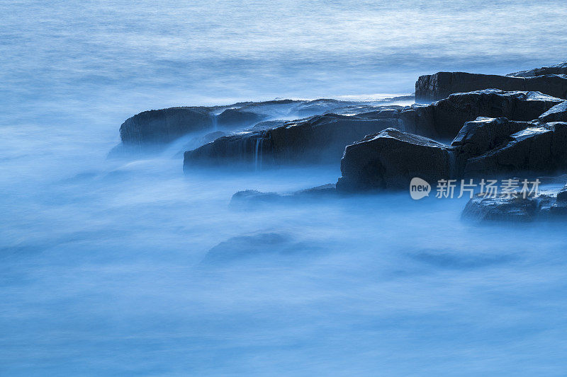
[[[347,146],[338,191],[406,189],[428,182],[567,170],[567,123],[479,117],[466,122],[451,145],[397,129]]]

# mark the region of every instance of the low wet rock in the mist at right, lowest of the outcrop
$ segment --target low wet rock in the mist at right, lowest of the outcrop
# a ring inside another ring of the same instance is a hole
[[[567,201],[558,192],[542,192],[538,196],[483,197],[468,201],[461,218],[468,221],[532,222],[567,219]]]

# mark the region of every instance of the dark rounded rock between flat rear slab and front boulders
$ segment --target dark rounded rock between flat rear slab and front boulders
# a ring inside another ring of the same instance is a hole
[[[465,122],[477,117],[534,120],[563,100],[538,92],[487,89],[456,93],[431,105],[412,105],[400,112],[406,132],[434,139],[453,139]]]

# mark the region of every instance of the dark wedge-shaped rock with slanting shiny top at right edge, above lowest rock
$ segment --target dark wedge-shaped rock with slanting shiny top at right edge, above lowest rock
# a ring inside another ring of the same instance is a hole
[[[502,147],[470,158],[464,174],[556,173],[564,169],[567,169],[567,123],[555,122],[512,134]]]

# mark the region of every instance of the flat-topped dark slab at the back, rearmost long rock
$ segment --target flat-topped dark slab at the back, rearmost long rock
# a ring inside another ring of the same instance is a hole
[[[468,74],[466,72],[437,72],[420,76],[415,83],[415,101],[430,103],[449,97],[452,93],[466,93],[483,89],[503,91],[538,91],[558,98],[567,98],[567,76],[544,75],[534,77]]]

